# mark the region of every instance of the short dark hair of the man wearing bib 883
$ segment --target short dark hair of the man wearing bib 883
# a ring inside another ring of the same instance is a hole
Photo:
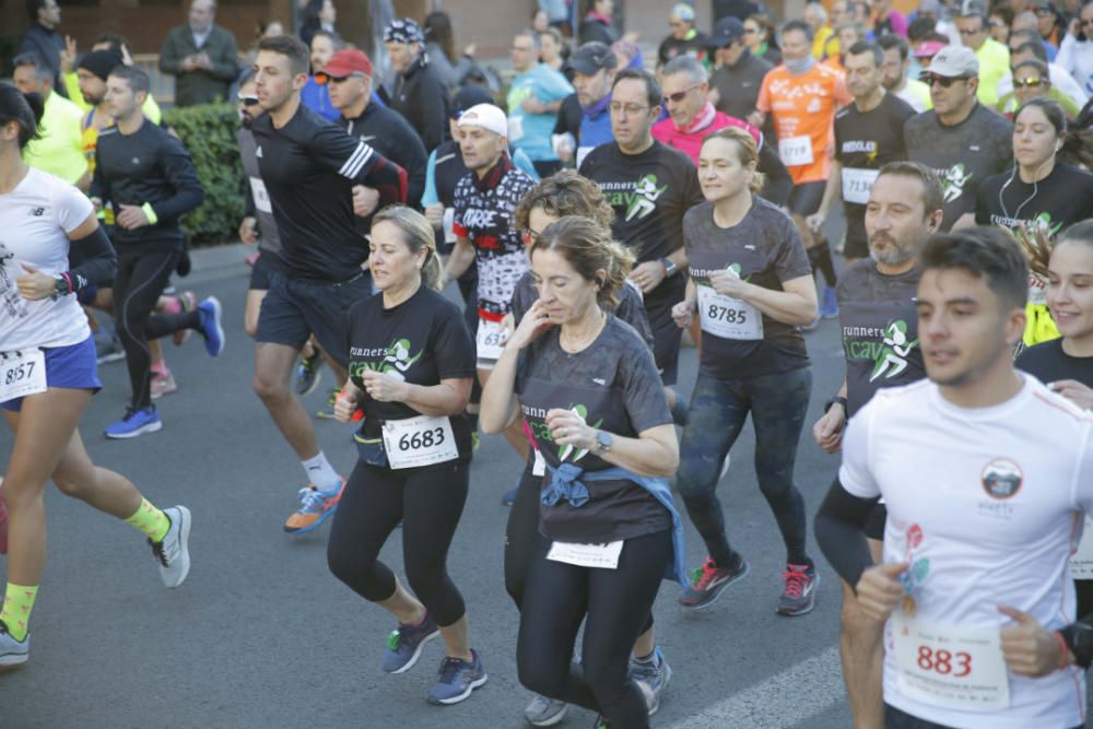
[[[1029,301],[1029,262],[1009,231],[980,225],[931,235],[922,248],[922,271],[961,269],[986,280],[1009,308]]]

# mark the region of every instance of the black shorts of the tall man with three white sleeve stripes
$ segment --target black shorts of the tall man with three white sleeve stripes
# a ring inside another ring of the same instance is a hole
[[[348,366],[349,308],[372,296],[372,278],[362,271],[342,283],[317,283],[272,270],[269,279],[255,339],[299,350],[314,333],[334,362]]]

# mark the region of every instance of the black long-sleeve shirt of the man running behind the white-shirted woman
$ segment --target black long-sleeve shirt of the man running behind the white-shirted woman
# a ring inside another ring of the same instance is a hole
[[[148,119],[132,134],[117,127],[98,132],[92,197],[121,205],[152,205],[156,222],[132,231],[120,225],[111,238],[118,248],[178,249],[185,240],[179,219],[204,200],[204,188],[186,146]]]

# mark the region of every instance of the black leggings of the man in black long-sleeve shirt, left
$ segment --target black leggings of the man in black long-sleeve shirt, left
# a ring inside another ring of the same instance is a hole
[[[183,329],[200,329],[201,315],[152,314],[179,254],[171,251],[118,251],[118,271],[114,274],[114,319],[118,338],[126,350],[133,409],[152,404],[152,354],[148,342]]]

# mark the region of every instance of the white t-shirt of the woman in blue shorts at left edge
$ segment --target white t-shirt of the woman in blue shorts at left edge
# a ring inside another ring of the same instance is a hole
[[[68,233],[92,212],[80,190],[34,167],[0,195],[0,351],[70,346],[91,334],[74,294],[30,302],[15,280],[25,272],[23,263],[48,275],[69,270]]]

